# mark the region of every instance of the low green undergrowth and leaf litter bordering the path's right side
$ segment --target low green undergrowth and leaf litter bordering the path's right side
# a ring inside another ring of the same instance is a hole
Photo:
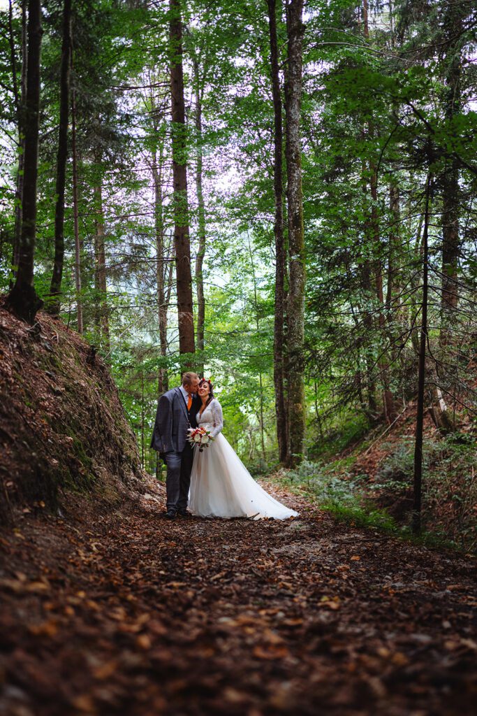
[[[305,460],[293,470],[279,470],[273,477],[288,489],[305,494],[340,521],[378,528],[426,546],[475,551],[475,448],[468,435],[453,435],[426,445],[424,530],[419,538],[410,531],[413,440],[403,436],[383,447],[390,452],[373,478],[353,473],[356,453],[326,464]]]

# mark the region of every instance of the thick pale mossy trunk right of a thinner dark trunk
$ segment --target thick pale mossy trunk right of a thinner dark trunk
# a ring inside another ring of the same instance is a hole
[[[288,64],[285,81],[287,203],[290,287],[288,291],[288,445],[287,462],[303,457],[305,441],[305,231],[300,145],[303,0],[286,6]]]

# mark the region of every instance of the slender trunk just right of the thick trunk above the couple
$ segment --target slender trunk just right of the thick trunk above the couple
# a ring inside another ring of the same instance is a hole
[[[197,141],[197,165],[195,170],[195,188],[197,191],[198,210],[198,236],[199,246],[195,259],[195,286],[197,290],[197,350],[204,350],[204,328],[205,328],[205,296],[204,296],[204,257],[205,257],[205,203],[202,188],[202,97],[200,92],[199,62],[194,59],[195,79],[195,132]],[[200,365],[197,365],[197,372],[204,374],[204,359],[201,357]]]

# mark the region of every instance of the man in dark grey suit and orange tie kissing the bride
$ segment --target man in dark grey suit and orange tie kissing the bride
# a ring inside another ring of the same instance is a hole
[[[185,373],[182,385],[172,388],[159,398],[151,448],[157,450],[167,465],[166,517],[187,517],[190,473],[192,471],[192,445],[187,442],[187,429],[197,427],[196,415],[200,410],[197,396],[199,376]]]

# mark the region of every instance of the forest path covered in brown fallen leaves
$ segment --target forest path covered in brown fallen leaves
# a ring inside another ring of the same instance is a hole
[[[472,561],[285,500],[300,518],[171,523],[147,495],[2,532],[0,712],[470,713]]]

